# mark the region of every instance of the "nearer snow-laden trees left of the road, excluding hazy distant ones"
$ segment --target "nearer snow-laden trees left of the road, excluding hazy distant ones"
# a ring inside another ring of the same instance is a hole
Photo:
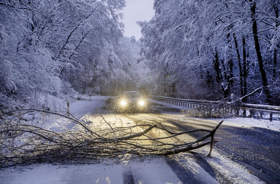
[[[124,0],[0,1],[0,105],[83,88],[122,37]]]

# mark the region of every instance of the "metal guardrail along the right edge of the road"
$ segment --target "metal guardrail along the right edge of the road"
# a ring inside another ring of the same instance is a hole
[[[178,99],[171,97],[161,97],[155,95],[148,95],[149,98],[156,101],[161,101],[177,106],[183,106],[188,108],[195,108],[201,106],[205,101],[203,100],[190,100],[190,99]],[[208,101],[212,104],[219,104],[217,101]],[[228,102],[229,103],[229,102]],[[243,117],[246,117],[246,111],[249,111],[248,117],[252,117],[253,113],[259,112],[259,118],[262,119],[264,113],[269,113],[269,120],[272,122],[273,114],[280,114],[280,106],[268,106],[268,105],[259,105],[259,104],[241,104],[240,110],[243,112]],[[237,112],[239,115],[239,112]]]

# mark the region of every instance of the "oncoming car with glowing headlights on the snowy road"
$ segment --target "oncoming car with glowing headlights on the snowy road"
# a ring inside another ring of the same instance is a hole
[[[139,91],[125,91],[117,98],[119,110],[139,110],[143,111],[148,107],[148,102]]]

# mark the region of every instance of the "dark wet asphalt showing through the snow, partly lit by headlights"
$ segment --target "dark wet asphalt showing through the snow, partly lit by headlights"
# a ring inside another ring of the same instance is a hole
[[[109,113],[108,109],[106,111]],[[213,129],[217,125],[217,122],[213,120],[176,118],[176,115],[180,115],[179,111],[176,108],[151,104],[151,108],[145,113],[127,112],[117,113],[117,115],[119,118],[132,121],[143,118],[158,120],[172,131],[186,131],[197,128]],[[196,132],[190,136],[198,138],[202,135],[202,132]],[[203,150],[191,157],[199,167],[203,168],[218,183],[254,182],[250,181],[250,177],[249,179],[240,178],[238,174],[234,174],[235,172],[238,173],[238,169],[236,167],[231,168],[232,163],[244,168],[244,171],[248,172],[245,173],[245,176],[254,176],[264,183],[280,183],[280,132],[258,127],[239,128],[222,124],[215,136],[222,138],[222,141],[214,145],[215,152],[225,158],[224,165],[221,166],[222,169],[212,163],[213,159],[211,160],[211,157],[205,157]],[[214,162],[221,161],[216,160]],[[197,172],[194,172],[192,167],[185,167],[184,164],[172,159],[172,157],[167,157],[166,163],[183,183],[209,183]],[[230,163],[229,166],[225,166],[228,163]],[[228,171],[225,171],[225,168]],[[133,181],[132,173],[128,171],[127,176],[125,174],[123,179],[131,183]]]

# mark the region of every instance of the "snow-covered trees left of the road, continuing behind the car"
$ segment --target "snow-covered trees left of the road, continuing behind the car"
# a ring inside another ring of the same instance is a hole
[[[147,85],[141,44],[123,36],[124,6],[124,0],[0,1],[0,105]]]

